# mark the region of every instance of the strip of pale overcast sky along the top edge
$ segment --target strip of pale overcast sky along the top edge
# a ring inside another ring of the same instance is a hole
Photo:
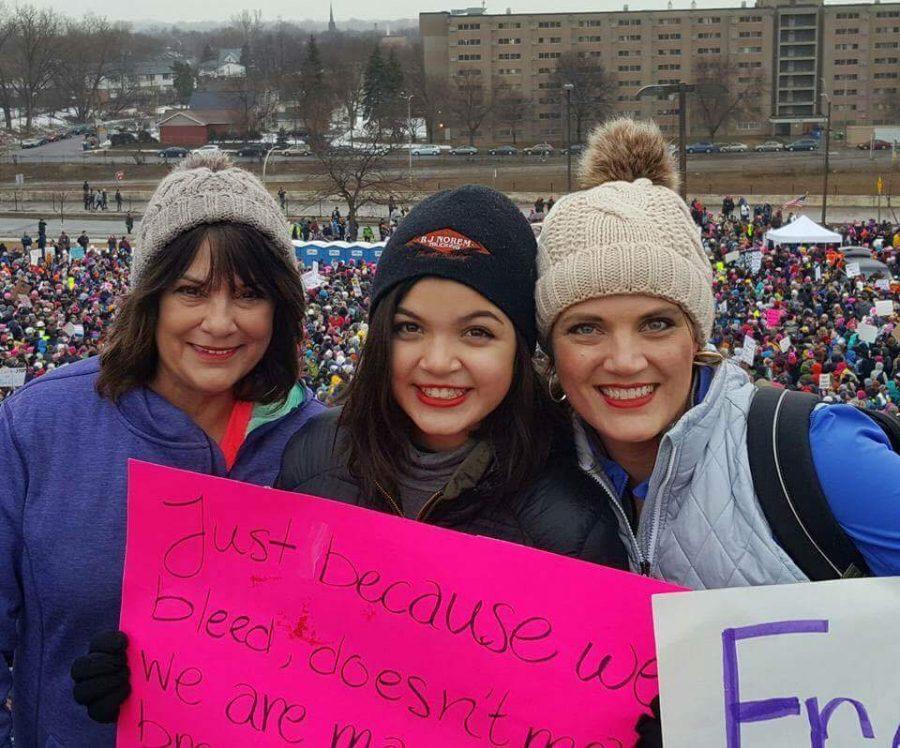
[[[97,15],[106,15],[116,20],[129,21],[227,21],[244,8],[260,8],[263,18],[274,20],[279,16],[285,20],[311,19],[316,21],[328,20],[328,1],[298,3],[296,0],[217,0],[215,3],[209,0],[140,0],[138,3],[118,2],[101,3],[95,0],[66,0],[61,2],[48,2],[48,0],[32,0],[35,5],[52,6],[69,15],[81,15],[85,12],[93,12]],[[441,11],[451,8],[465,8],[470,5],[478,5],[474,0],[392,0],[389,3],[373,3],[371,0],[335,0],[334,15],[340,23],[349,18],[364,20],[390,20],[390,19],[415,19],[422,11]],[[674,0],[675,8],[688,8],[690,0]],[[740,2],[729,0],[698,0],[699,7],[727,7],[739,6]],[[752,2],[748,2],[752,6]],[[664,8],[666,0],[631,0],[629,8],[643,10],[649,8]],[[622,2],[615,0],[565,0],[562,4],[548,4],[546,0],[508,0],[504,3],[498,0],[488,2],[489,13],[503,13],[507,7],[515,12],[536,11],[583,11],[583,10],[618,10]]]

